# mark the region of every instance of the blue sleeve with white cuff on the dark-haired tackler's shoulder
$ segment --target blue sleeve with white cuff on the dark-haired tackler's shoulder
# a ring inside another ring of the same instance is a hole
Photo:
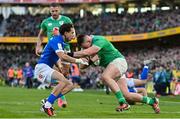
[[[52,49],[57,52],[64,52],[63,39],[60,36],[55,36],[50,39],[50,45]]]

